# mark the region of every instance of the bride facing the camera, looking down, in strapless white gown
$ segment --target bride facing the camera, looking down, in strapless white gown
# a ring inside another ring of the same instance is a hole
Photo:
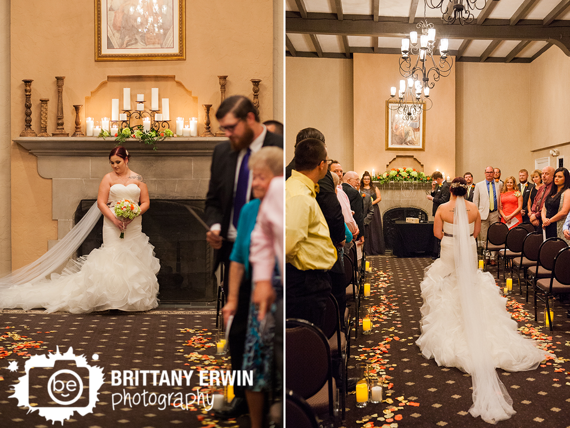
[[[148,188],[143,177],[129,169],[129,158],[124,147],[113,148],[109,155],[113,171],[101,180],[97,204],[86,215],[90,223],[82,226],[80,221],[64,238],[75,237],[74,243],[71,247],[64,245],[66,249],[59,249],[59,253],[66,258],[75,251],[100,213],[105,216],[103,245],[69,263],[62,274],[51,274],[50,279],[46,275],[62,263],[48,254],[51,250],[28,267],[0,279],[0,308],[86,313],[107,309],[139,311],[158,306],[156,274],[160,264],[141,230],[141,215],[150,205]],[[139,201],[141,213],[134,220],[123,222],[117,219],[113,207],[125,198]],[[76,228],[82,230],[80,236],[74,236],[78,235]],[[124,238],[120,238],[123,231]]]

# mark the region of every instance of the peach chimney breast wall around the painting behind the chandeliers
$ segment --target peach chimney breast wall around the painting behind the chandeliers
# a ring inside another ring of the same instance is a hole
[[[386,100],[390,87],[400,86],[399,55],[354,55],[354,156],[359,174],[377,172],[397,155],[413,155],[430,174],[455,169],[455,66],[430,91],[433,107],[426,112],[425,151],[385,150]]]

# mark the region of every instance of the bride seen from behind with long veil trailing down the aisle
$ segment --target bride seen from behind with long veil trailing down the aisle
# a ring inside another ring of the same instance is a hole
[[[426,268],[421,283],[422,333],[416,344],[438,365],[471,374],[470,413],[496,423],[516,411],[495,368],[536,369],[550,354],[518,333],[494,278],[476,268],[473,236],[481,230],[481,216],[477,205],[463,199],[466,181],[457,177],[450,191],[450,201],[435,213],[434,235],[441,239],[441,258]]]

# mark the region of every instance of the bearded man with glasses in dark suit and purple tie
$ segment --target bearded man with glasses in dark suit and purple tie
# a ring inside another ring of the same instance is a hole
[[[210,231],[206,241],[217,250],[215,267],[225,265],[224,284],[228,284],[229,257],[237,235],[237,221],[243,205],[251,194],[251,172],[247,161],[251,153],[264,146],[283,148],[283,136],[272,134],[259,122],[259,114],[248,98],[234,95],[226,98],[216,112],[216,118],[227,141],[214,148],[210,168],[210,184],[204,214]],[[227,293],[227,288],[226,288]],[[246,338],[251,281],[243,278],[239,288],[237,309],[229,333],[229,348],[233,370],[241,370]],[[235,389],[235,398],[219,411],[217,417],[231,418],[247,413],[243,388]]]

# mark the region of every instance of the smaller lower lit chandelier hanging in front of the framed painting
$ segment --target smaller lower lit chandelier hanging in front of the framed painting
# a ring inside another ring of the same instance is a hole
[[[402,120],[412,122],[416,120],[422,111],[427,111],[431,108],[432,102],[429,98],[429,87],[424,88],[424,95],[422,96],[421,83],[410,77],[408,84],[406,80],[400,80],[400,90],[396,97],[396,87],[390,88],[390,98],[388,99],[388,108],[396,111],[397,114],[402,115]]]

